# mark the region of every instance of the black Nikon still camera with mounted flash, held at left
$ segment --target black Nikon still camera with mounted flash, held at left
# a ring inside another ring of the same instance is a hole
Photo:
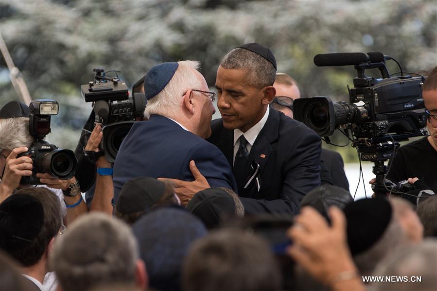
[[[77,168],[77,160],[70,150],[58,149],[49,144],[44,137],[51,132],[50,117],[58,114],[58,103],[54,100],[38,99],[29,105],[29,132],[35,138],[29,151],[19,154],[30,156],[34,168],[32,176],[21,177],[22,185],[40,185],[36,173],[49,173],[52,176],[68,180],[73,177]]]

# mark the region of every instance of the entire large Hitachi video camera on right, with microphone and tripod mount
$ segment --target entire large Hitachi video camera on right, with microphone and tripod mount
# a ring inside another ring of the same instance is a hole
[[[384,161],[395,156],[399,141],[426,136],[425,105],[422,88],[425,77],[401,75],[393,77],[385,66],[394,60],[381,52],[317,54],[318,67],[354,66],[358,76],[349,88],[350,103],[332,102],[329,97],[296,99],[293,103],[295,119],[305,123],[330,143],[335,129],[352,140],[363,161],[375,163],[375,192],[385,192]],[[366,69],[378,68],[382,78],[367,77]],[[352,134],[350,137],[349,131]],[[390,182],[391,183],[391,182]]]

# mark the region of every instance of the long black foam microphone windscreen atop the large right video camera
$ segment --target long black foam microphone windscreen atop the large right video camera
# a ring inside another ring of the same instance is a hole
[[[319,53],[314,57],[317,67],[351,66],[367,62],[364,52]]]

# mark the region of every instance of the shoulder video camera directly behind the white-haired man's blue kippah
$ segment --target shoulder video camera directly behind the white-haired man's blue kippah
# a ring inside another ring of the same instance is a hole
[[[146,98],[143,93],[129,96],[129,90],[120,78],[106,77],[105,70],[93,69],[94,81],[82,85],[85,102],[92,102],[95,122],[102,124],[102,151],[108,162],[113,163],[124,137],[137,117],[144,117]]]

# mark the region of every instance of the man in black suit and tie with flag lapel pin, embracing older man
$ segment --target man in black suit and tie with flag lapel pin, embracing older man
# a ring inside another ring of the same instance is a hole
[[[302,197],[320,185],[320,138],[269,107],[276,95],[276,60],[259,44],[224,57],[210,142],[233,166],[245,213],[297,213]]]

